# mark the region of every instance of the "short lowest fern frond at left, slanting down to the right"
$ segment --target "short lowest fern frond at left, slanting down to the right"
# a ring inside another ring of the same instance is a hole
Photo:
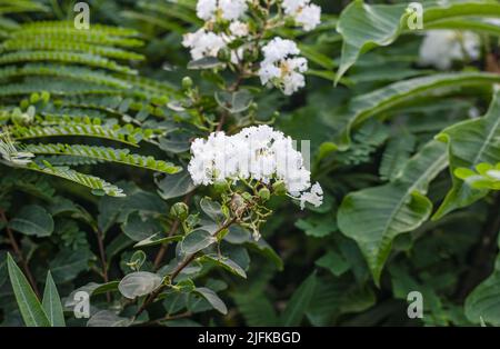
[[[123,193],[122,189],[107,182],[103,179],[100,179],[99,177],[83,174],[83,173],[77,172],[68,167],[54,167],[51,163],[49,163],[48,161],[43,161],[43,164],[39,164],[33,161],[23,168],[70,180],[72,182],[76,182],[78,185],[81,185],[81,186],[92,189],[92,191],[97,195],[104,193],[110,197],[124,197],[126,196]]]

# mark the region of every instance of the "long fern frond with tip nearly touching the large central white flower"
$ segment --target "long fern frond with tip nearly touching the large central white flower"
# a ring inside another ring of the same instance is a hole
[[[61,154],[76,156],[82,158],[90,158],[101,161],[117,162],[148,169],[157,172],[168,174],[177,173],[181,168],[173,166],[170,162],[156,160],[153,157],[143,157],[139,154],[131,154],[128,149],[113,149],[106,147],[93,147],[83,144],[26,144],[21,147],[23,151],[33,154]]]

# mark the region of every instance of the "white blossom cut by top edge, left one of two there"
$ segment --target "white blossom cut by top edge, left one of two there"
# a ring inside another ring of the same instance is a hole
[[[247,0],[198,0],[197,16],[206,21],[216,20],[218,14],[232,21],[247,11]]]

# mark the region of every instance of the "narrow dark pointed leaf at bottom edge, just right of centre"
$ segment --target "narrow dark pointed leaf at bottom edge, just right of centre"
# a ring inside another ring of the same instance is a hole
[[[317,283],[316,272],[310,275],[293,292],[280,318],[281,326],[300,326],[314,295]]]

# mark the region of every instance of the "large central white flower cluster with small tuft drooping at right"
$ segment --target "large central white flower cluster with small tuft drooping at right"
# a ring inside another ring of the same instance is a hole
[[[226,179],[253,179],[267,185],[283,181],[302,209],[306,202],[316,207],[322,203],[321,187],[311,187],[311,173],[303,166],[302,154],[293,149],[292,139],[269,126],[249,127],[234,136],[214,132],[207,140],[198,138],[191,143],[191,153],[188,171],[194,185]]]

